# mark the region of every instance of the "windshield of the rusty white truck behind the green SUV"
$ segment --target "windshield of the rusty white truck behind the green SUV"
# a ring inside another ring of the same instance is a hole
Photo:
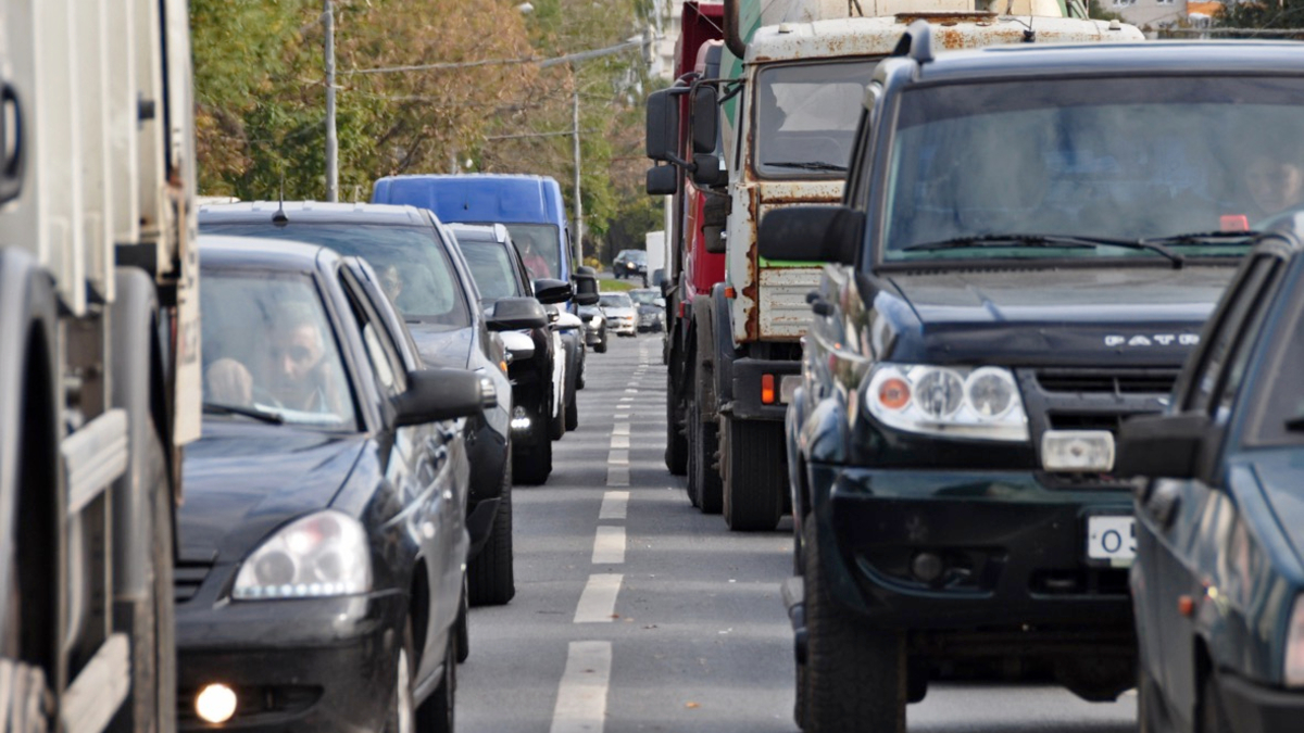
[[[756,171],[765,177],[846,175],[865,85],[878,60],[788,64],[756,77]]]

